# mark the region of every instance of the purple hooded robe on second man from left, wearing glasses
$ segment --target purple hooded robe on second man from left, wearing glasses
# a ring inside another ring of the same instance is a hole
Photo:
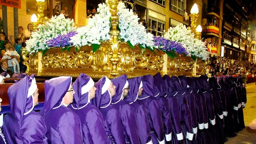
[[[57,77],[45,81],[45,107],[39,112],[52,144],[82,144],[81,123],[77,114],[62,101],[71,86],[72,77]]]

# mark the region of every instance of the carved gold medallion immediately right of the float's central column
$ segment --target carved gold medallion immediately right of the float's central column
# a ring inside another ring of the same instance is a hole
[[[133,50],[128,46],[120,46],[119,55],[121,61],[118,63],[118,71],[133,72]]]

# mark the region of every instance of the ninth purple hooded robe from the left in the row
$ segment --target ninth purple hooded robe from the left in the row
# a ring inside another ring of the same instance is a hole
[[[166,98],[169,101],[170,112],[171,112],[171,126],[173,131],[173,138],[171,139],[172,143],[179,143],[183,139],[182,127],[181,127],[181,119],[179,118],[179,107],[178,100],[175,95],[177,91],[173,88],[173,83],[171,82],[171,78],[169,75],[163,76],[164,88],[166,93]]]

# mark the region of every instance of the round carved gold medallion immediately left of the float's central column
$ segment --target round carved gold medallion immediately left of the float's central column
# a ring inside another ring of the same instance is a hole
[[[94,71],[110,71],[110,48],[100,46],[93,56],[93,70]]]

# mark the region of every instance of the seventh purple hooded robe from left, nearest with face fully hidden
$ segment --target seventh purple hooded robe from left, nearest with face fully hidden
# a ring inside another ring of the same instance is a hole
[[[142,95],[138,97],[138,101],[143,103],[149,112],[148,120],[150,134],[153,144],[164,144],[163,122],[161,118],[161,109],[157,99],[154,98],[154,79],[152,75],[144,75],[142,77]]]

